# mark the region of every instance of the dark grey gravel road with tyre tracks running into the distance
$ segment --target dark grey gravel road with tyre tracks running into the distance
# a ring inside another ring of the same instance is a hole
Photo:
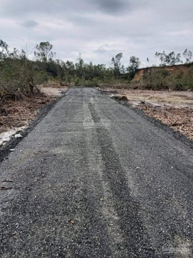
[[[171,131],[71,88],[1,164],[0,257],[192,257],[192,171]]]

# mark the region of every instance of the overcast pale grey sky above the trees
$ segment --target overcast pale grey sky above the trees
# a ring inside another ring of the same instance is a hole
[[[0,39],[10,48],[50,41],[57,58],[110,65],[156,51],[193,52],[192,0],[0,0]]]

